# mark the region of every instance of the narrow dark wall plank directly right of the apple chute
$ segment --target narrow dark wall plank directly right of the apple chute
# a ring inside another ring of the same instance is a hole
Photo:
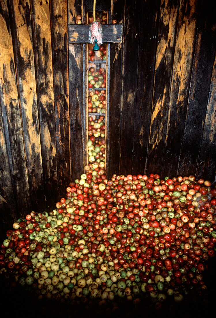
[[[117,0],[113,3],[113,16],[117,23],[122,23],[125,14],[125,1]],[[121,136],[121,79],[122,79],[123,44],[110,44],[110,104],[108,140],[107,173],[111,177],[119,174],[120,136]]]

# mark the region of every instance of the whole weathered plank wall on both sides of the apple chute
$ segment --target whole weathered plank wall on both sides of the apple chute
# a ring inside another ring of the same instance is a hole
[[[52,209],[83,171],[81,44],[90,0],[0,0],[0,230]],[[100,6],[108,1],[100,1]],[[86,6],[87,7],[87,6]],[[108,176],[216,169],[216,11],[204,0],[112,0]],[[111,117],[110,117],[111,118]]]

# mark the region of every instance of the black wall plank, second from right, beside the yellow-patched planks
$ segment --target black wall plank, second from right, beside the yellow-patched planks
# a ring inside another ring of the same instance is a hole
[[[206,2],[202,1],[196,25],[195,51],[179,175],[196,174],[216,50],[216,32],[212,30],[216,22],[215,15],[215,4],[209,3],[206,6]],[[212,171],[208,173],[211,174]]]

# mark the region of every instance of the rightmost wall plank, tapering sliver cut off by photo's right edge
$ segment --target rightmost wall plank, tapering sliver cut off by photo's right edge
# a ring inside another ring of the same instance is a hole
[[[205,125],[200,148],[197,176],[215,180],[216,174],[216,56],[209,90]]]

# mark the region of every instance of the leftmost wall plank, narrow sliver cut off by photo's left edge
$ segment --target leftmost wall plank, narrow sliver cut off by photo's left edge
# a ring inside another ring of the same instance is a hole
[[[0,91],[2,94],[2,90]],[[0,100],[0,112],[1,100]],[[4,136],[3,118],[0,116],[0,237],[5,235],[6,227],[12,224],[18,215],[14,200],[10,165]]]

